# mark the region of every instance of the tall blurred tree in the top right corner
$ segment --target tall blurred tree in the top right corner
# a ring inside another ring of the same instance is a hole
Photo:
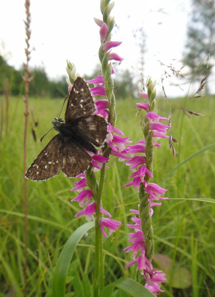
[[[212,73],[215,56],[215,1],[214,0],[192,0],[192,18],[188,26],[186,54],[183,63],[190,68],[190,74],[196,72],[196,79],[200,80],[208,72]],[[205,58],[198,67],[201,59]],[[207,68],[208,66],[208,68]],[[197,69],[198,67],[198,69]],[[206,89],[207,90],[207,89]]]

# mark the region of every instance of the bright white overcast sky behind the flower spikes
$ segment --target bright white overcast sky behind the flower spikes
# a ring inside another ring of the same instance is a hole
[[[80,75],[91,74],[99,62],[99,27],[93,17],[102,19],[100,0],[61,0],[56,3],[31,0],[30,44],[35,51],[31,53],[30,65],[44,66],[50,78],[58,78],[66,75],[68,59],[76,65]],[[119,30],[113,29],[112,40],[123,43],[113,51],[124,58],[119,68],[131,71],[138,65],[139,40],[133,37],[133,32],[142,27],[147,35],[144,75],[160,82],[164,68],[157,59],[179,69],[189,13],[190,0],[115,0],[111,15],[115,16]],[[23,0],[1,4],[0,52],[16,68],[25,61],[25,18]],[[170,96],[181,94],[180,89],[168,88],[166,92]]]

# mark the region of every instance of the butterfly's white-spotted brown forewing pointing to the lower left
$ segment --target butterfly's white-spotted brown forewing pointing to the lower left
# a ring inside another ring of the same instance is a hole
[[[39,153],[25,173],[31,180],[47,180],[61,171],[62,147],[60,134],[55,135]]]

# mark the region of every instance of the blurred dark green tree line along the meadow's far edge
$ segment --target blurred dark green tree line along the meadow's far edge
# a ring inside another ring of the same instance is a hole
[[[84,75],[86,80],[100,75],[100,67],[93,71],[92,76]],[[24,68],[16,70],[9,66],[4,58],[0,55],[0,95],[5,92],[6,78],[9,80],[9,93],[13,96],[24,94]],[[61,77],[58,81],[50,80],[45,73],[45,69],[35,67],[31,69],[33,80],[29,85],[29,95],[34,97],[59,98],[67,96],[68,84],[66,76]],[[114,80],[114,92],[118,98],[134,97],[136,93],[135,85],[132,82],[132,75],[128,70],[121,70],[117,79]],[[91,85],[92,87],[92,85]]]

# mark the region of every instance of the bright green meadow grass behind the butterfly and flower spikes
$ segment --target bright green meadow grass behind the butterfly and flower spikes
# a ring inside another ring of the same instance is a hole
[[[2,98],[4,100],[4,98]],[[164,296],[215,296],[215,99],[201,97],[186,103],[172,100],[172,132],[179,145],[177,158],[169,150],[168,140],[161,139],[160,148],[154,148],[154,178],[152,182],[168,189],[168,200],[154,207],[155,257],[154,267],[166,272]],[[38,126],[37,142],[33,140],[33,121],[29,115],[27,136],[27,168],[48,141],[55,135],[50,131],[53,117],[58,117],[63,100],[29,100]],[[135,116],[134,99],[116,102],[117,128],[136,143],[143,139],[143,112]],[[182,109],[201,113],[189,114]],[[21,98],[10,98],[8,131],[6,133],[5,104],[0,144],[0,297],[23,296],[24,287],[24,187],[23,187],[23,135],[24,103]],[[65,109],[62,113],[64,117]],[[166,101],[157,100],[156,112],[167,117],[170,108]],[[210,149],[205,149],[211,146]],[[205,150],[204,150],[205,149]],[[189,158],[192,156],[192,158]],[[187,160],[188,159],[188,160]],[[184,162],[186,160],[186,162]],[[183,163],[184,162],[184,163]],[[179,166],[183,163],[181,166]],[[129,245],[131,232],[129,209],[137,209],[137,193],[123,187],[131,174],[128,166],[111,156],[103,192],[103,207],[113,220],[122,225],[110,238],[104,238],[105,285],[126,276],[142,282],[136,267],[124,269],[131,255],[123,249]],[[74,218],[80,210],[77,196],[70,192],[73,179],[60,173],[50,180],[27,180],[28,200],[28,283],[27,296],[51,296],[53,271],[59,253],[68,237],[86,222],[84,217]],[[159,255],[158,255],[159,254]],[[94,230],[80,241],[69,268],[66,296],[91,296],[94,268]],[[184,280],[181,282],[181,277]],[[143,283],[143,282],[142,282]],[[10,291],[10,295],[7,293]],[[127,296],[115,291],[114,296]]]

